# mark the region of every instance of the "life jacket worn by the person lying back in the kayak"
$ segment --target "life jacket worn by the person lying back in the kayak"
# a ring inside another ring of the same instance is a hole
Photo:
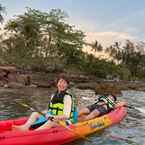
[[[105,102],[108,109],[114,109],[116,98],[115,96],[112,96],[112,97],[114,98],[114,100],[112,100],[111,98],[105,95],[100,96],[98,98],[98,102]]]

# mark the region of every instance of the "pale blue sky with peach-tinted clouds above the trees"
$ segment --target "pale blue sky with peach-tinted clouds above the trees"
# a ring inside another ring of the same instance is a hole
[[[145,41],[145,0],[0,0],[6,7],[5,21],[23,14],[26,7],[48,12],[60,8],[67,22],[104,46],[130,39]]]

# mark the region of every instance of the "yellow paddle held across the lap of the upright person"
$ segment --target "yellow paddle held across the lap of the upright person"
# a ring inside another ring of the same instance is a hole
[[[39,110],[38,110],[36,107],[34,107],[34,106],[32,107],[32,106],[30,106],[30,105],[28,105],[28,104],[26,104],[26,103],[22,103],[22,102],[16,102],[16,103],[19,104],[19,105],[21,105],[21,106],[23,106],[23,107],[25,107],[25,108],[30,109],[31,111],[38,112],[38,113],[40,113],[42,116],[45,117],[45,114],[44,114],[43,112],[39,111]],[[53,118],[52,116],[50,116],[50,117],[47,118],[47,119],[53,121],[54,118]],[[78,135],[80,138],[85,139],[86,141],[92,143],[92,141],[91,141],[90,139],[86,138],[86,136],[81,135],[81,134],[75,132],[73,129],[71,129],[71,128],[65,126],[65,125],[62,124],[62,123],[59,123],[59,124],[60,124],[61,126],[63,126],[64,128],[66,128],[67,130],[71,131],[72,133]]]

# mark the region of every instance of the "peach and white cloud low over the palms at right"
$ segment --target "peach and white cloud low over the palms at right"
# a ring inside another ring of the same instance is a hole
[[[135,14],[132,14],[132,17],[134,18],[134,16],[141,14],[143,14],[142,11],[136,12]],[[120,18],[105,26],[99,22],[96,24],[95,22],[79,19],[77,17],[73,19],[71,18],[69,22],[75,24],[76,28],[85,32],[87,42],[98,40],[104,47],[106,47],[116,41],[138,39],[138,36],[134,35],[138,32],[136,27],[129,25],[124,26],[124,23],[128,21],[128,16],[126,16],[125,18]]]

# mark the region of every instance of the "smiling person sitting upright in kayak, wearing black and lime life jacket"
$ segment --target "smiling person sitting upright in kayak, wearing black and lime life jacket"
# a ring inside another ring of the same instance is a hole
[[[60,121],[74,121],[73,112],[75,105],[73,95],[68,92],[68,85],[69,82],[66,76],[60,75],[57,80],[57,91],[51,96],[48,110],[43,111],[43,113],[46,113],[45,123],[37,128],[37,130],[57,126]],[[39,112],[33,112],[24,125],[13,126],[13,129],[26,131],[40,117],[41,114]]]

